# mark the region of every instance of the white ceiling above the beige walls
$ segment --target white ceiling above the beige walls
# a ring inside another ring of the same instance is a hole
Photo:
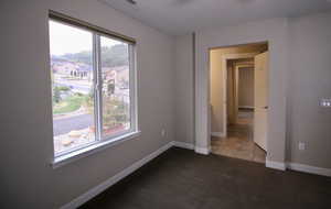
[[[330,0],[99,0],[168,34],[331,10]]]

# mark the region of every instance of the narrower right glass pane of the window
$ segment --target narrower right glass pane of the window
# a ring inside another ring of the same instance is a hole
[[[129,45],[100,37],[103,139],[130,129]]]

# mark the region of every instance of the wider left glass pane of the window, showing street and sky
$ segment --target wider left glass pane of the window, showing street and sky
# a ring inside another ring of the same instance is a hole
[[[54,152],[95,141],[93,34],[50,21]]]

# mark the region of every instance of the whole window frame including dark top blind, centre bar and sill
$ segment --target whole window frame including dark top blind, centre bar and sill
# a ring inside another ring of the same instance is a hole
[[[54,148],[54,135],[52,138],[53,143],[53,167],[58,167],[68,162],[75,161],[77,158],[87,156],[105,147],[116,145],[119,142],[135,139],[140,135],[138,129],[138,99],[137,99],[137,65],[136,65],[136,41],[131,37],[102,29],[99,26],[92,25],[87,22],[73,19],[65,14],[54,12],[50,10],[47,21],[56,21],[61,24],[68,26],[74,26],[79,30],[88,31],[93,36],[93,90],[94,90],[94,120],[95,120],[95,141],[79,145],[77,147],[72,147],[67,151],[55,153]],[[111,38],[115,41],[120,41],[128,44],[128,58],[129,58],[129,116],[130,116],[130,128],[117,132],[111,135],[103,138],[103,69],[102,69],[102,37]],[[50,51],[49,51],[50,52]],[[50,52],[51,54],[51,52]],[[50,61],[51,62],[51,61]],[[50,65],[51,66],[51,65]],[[52,85],[51,85],[52,87]],[[53,106],[52,106],[53,108]],[[52,114],[53,116],[53,114]],[[52,118],[53,122],[53,118]]]

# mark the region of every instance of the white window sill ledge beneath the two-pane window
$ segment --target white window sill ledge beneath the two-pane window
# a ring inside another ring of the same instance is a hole
[[[104,141],[104,142],[98,142],[98,143],[95,143],[95,144],[93,144],[90,146],[87,146],[85,148],[81,148],[81,150],[64,154],[62,156],[57,156],[52,162],[52,166],[53,166],[53,168],[61,167],[63,165],[66,165],[68,163],[77,161],[79,158],[86,157],[88,155],[98,153],[98,152],[100,152],[105,148],[108,148],[110,146],[114,146],[114,145],[119,144],[121,142],[125,142],[127,140],[138,138],[140,135],[140,133],[141,133],[140,131],[130,132],[130,133],[114,138],[111,140],[107,140],[107,141]]]

